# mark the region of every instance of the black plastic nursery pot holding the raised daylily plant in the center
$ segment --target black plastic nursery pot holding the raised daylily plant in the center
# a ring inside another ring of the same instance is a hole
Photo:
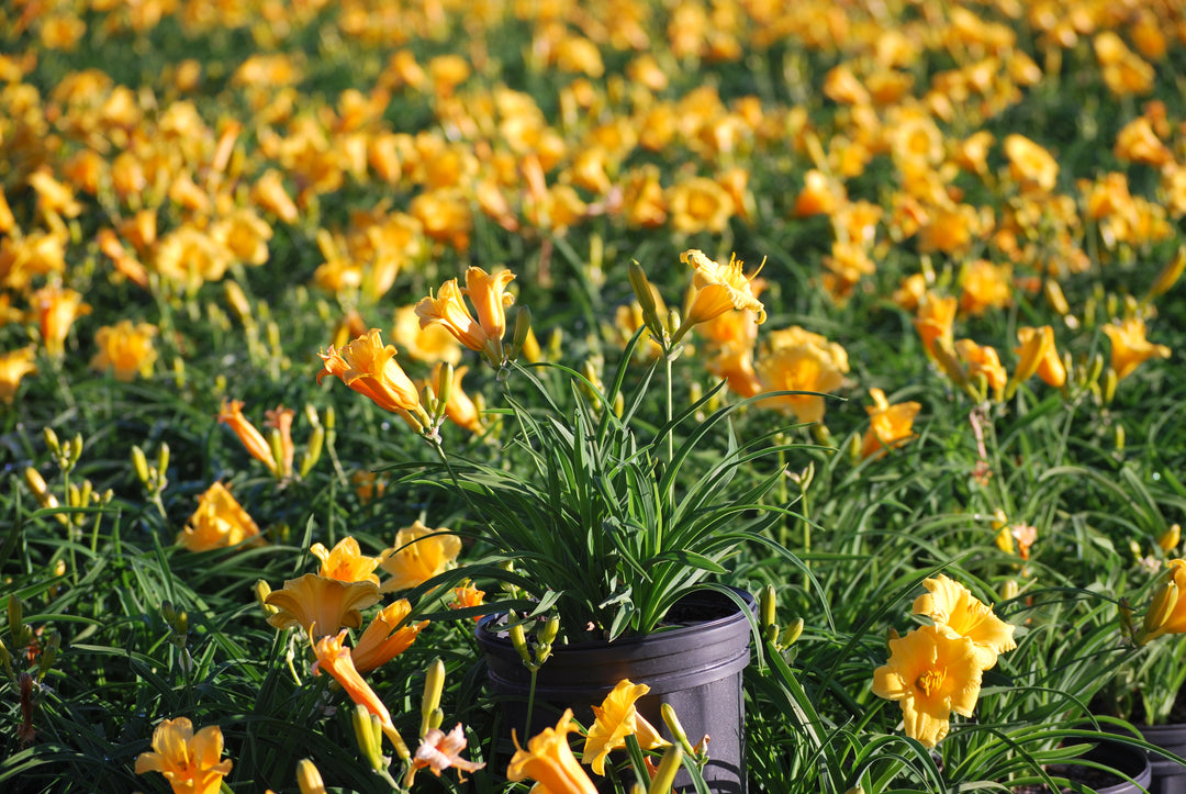
[[[738,590],[751,612],[753,596]],[[638,712],[667,738],[659,714],[670,704],[691,743],[709,737],[704,780],[714,794],[745,794],[745,695],[741,672],[750,663],[750,618],[720,592],[694,592],[669,612],[670,628],[614,642],[555,646],[540,668],[530,728],[527,725],[531,675],[499,631],[499,615],[478,622],[477,639],[486,658],[487,675],[503,705],[505,736],[554,726],[565,709],[588,726],[592,707],[600,705],[621,679],[650,687],[638,700]],[[617,754],[616,754],[617,755]],[[691,790],[687,774],[675,790]]]

